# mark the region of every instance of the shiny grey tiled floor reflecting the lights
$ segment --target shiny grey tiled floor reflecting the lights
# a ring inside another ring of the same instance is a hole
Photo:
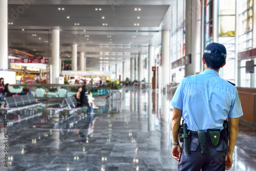
[[[90,116],[65,112],[62,115],[68,117],[63,119],[38,108],[11,123],[15,116],[10,115],[9,164],[4,166],[1,145],[0,170],[176,170],[178,162],[170,153],[171,98],[152,91],[126,91],[122,101],[96,98],[100,109]],[[240,123],[231,170],[256,170],[255,143],[255,130]]]

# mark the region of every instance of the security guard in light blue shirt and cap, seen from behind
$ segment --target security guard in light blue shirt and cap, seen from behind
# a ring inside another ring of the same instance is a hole
[[[179,161],[177,170],[229,170],[232,166],[243,111],[234,84],[218,74],[226,54],[223,45],[209,44],[202,57],[205,71],[185,77],[173,97],[172,156]]]

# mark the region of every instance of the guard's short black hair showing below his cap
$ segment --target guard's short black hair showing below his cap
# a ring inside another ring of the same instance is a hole
[[[213,49],[211,52],[221,55],[221,51],[219,49]],[[212,69],[220,69],[221,66],[224,64],[224,62],[226,61],[226,58],[213,55],[213,54],[204,54],[203,57],[204,57],[206,66]]]

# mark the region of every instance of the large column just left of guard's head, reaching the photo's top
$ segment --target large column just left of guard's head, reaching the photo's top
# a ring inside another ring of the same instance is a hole
[[[200,25],[198,18],[199,12],[193,10],[195,7],[200,6],[200,0],[186,1],[186,13],[190,13],[190,17],[186,17],[186,35],[185,35],[185,54],[191,54],[191,63],[185,66],[185,76],[194,75],[200,72]]]

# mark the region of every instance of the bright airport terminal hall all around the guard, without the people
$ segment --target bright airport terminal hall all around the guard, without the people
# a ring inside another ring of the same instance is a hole
[[[170,101],[211,42],[244,114],[230,170],[256,170],[255,18],[256,0],[1,0],[0,170],[177,170]]]

